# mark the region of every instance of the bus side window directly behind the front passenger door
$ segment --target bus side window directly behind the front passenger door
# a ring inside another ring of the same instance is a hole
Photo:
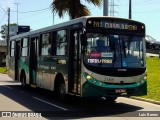
[[[56,55],[66,55],[67,54],[66,30],[60,30],[57,32],[56,44],[57,44]]]

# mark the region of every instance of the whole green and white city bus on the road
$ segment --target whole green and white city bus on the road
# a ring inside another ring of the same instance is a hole
[[[145,25],[114,17],[80,17],[10,38],[8,74],[66,95],[147,94]]]

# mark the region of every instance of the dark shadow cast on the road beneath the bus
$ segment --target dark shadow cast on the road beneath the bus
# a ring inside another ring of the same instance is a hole
[[[26,108],[34,111],[41,112],[42,116],[49,118],[67,118],[78,119],[88,117],[134,117],[135,111],[143,108],[138,106],[129,105],[126,103],[107,103],[104,99],[81,99],[77,97],[70,97],[68,102],[60,102],[53,93],[42,89],[22,89],[21,86],[8,86],[13,90],[2,89],[0,86],[0,93],[8,98],[18,102]],[[41,101],[36,101],[32,98],[36,96],[52,104],[56,104],[67,108],[66,111],[57,109],[53,106],[45,104]],[[18,111],[18,110],[17,110]],[[137,115],[138,116],[138,115]]]

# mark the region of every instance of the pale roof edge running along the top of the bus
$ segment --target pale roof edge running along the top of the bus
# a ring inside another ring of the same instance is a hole
[[[45,27],[45,28],[41,28],[41,29],[38,29],[38,30],[33,30],[33,31],[22,33],[22,34],[18,34],[18,35],[10,37],[10,40],[17,39],[17,38],[22,38],[22,37],[29,36],[29,35],[35,35],[37,33],[50,31],[50,30],[56,29],[56,28],[63,28],[65,26],[74,25],[76,23],[82,23],[85,26],[86,25],[86,20],[88,18],[121,19],[121,20],[127,20],[127,21],[132,21],[132,22],[137,22],[137,23],[143,24],[141,22],[131,20],[131,19],[126,19],[126,18],[109,17],[109,16],[83,16],[83,17],[79,17],[79,18],[76,18],[76,19],[69,20],[67,22],[59,23],[59,24],[56,24],[56,25],[51,25],[49,27]]]

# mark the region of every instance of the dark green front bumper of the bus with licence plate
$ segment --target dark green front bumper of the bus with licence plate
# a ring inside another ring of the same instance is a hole
[[[87,80],[82,85],[82,97],[120,97],[147,95],[147,81],[127,85],[109,85],[98,80]]]

